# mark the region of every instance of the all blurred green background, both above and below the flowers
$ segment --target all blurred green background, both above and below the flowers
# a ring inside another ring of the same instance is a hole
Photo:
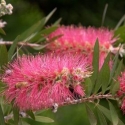
[[[100,27],[105,5],[108,4],[103,26],[114,28],[125,13],[124,0],[6,0],[6,2],[11,3],[14,7],[11,16],[2,17],[2,20],[7,22],[4,28],[7,35],[2,37],[4,40],[9,41],[14,40],[17,35],[23,33],[54,8],[57,8],[57,11],[47,25],[51,25],[61,17],[61,24],[64,25]],[[102,101],[102,104],[107,105],[105,100]],[[117,103],[114,104],[120,117],[125,122],[125,116],[122,115]],[[53,118],[55,122],[51,123],[51,125],[90,124],[84,104],[61,107],[55,114],[51,110],[41,111],[40,114]]]

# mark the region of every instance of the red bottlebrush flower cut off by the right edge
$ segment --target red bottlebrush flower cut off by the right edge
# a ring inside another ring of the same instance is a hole
[[[118,77],[118,81],[120,83],[120,88],[117,95],[122,99],[121,109],[125,113],[125,71]]]

